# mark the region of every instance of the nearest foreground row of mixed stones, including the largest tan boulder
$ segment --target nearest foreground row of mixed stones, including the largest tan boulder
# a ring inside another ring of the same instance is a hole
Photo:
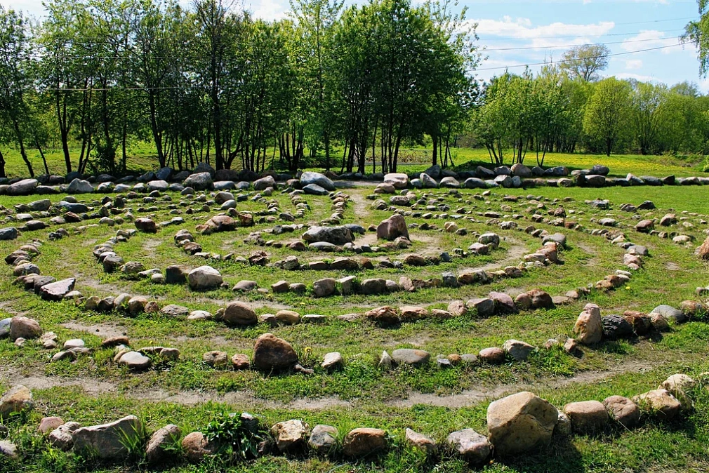
[[[473,429],[457,430],[445,439],[445,449],[459,455],[471,466],[481,466],[491,457],[524,455],[544,449],[554,437],[572,434],[593,435],[603,432],[613,421],[624,429],[641,425],[642,414],[647,418],[669,421],[693,409],[691,394],[695,381],[685,374],[674,374],[658,389],[638,394],[632,399],[610,396],[601,401],[578,401],[562,409],[545,399],[523,391],[493,401],[487,409],[488,435]],[[0,417],[33,408],[32,393],[25,386],[14,386],[0,399]],[[264,428],[249,413],[230,415],[231,424],[246,441],[258,440],[254,456],[271,453],[298,454],[306,449],[316,455],[363,458],[393,447],[386,430],[355,428],[338,441],[339,433],[332,425],[316,425],[312,430],[306,421],[291,419]],[[74,450],[79,455],[98,455],[104,460],[125,460],[129,445],[145,445],[145,457],[157,464],[174,455],[179,443],[187,460],[200,462],[218,455],[220,439],[194,431],[182,438],[177,425],[166,425],[150,436],[145,443],[143,425],[136,416],[126,416],[113,423],[82,427],[79,423],[65,423],[57,417],[43,418],[38,431],[48,443],[62,450]],[[181,440],[182,438],[182,440]],[[406,429],[406,444],[422,450],[425,455],[440,454],[437,442],[414,430]],[[232,441],[225,438],[225,442]],[[0,452],[18,457],[15,445],[3,441]]]

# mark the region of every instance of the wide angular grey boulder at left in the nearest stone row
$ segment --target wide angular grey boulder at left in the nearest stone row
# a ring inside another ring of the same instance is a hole
[[[135,416],[118,421],[82,427],[74,431],[74,451],[96,455],[103,460],[119,460],[130,455],[130,446],[143,437],[143,428]]]

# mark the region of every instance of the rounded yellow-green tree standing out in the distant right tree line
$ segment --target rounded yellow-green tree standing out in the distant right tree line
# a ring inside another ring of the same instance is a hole
[[[598,82],[584,113],[584,131],[600,144],[605,155],[627,136],[630,116],[630,85],[608,77]]]

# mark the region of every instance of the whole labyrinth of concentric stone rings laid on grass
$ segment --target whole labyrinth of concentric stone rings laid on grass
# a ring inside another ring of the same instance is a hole
[[[224,460],[236,408],[247,460],[470,467],[688,416],[709,218],[649,189],[703,182],[480,169],[0,185],[1,461]]]

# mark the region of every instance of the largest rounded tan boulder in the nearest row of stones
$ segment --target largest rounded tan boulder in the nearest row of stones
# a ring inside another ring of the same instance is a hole
[[[487,423],[490,443],[498,455],[517,455],[547,445],[559,412],[530,392],[498,399],[490,404]]]

